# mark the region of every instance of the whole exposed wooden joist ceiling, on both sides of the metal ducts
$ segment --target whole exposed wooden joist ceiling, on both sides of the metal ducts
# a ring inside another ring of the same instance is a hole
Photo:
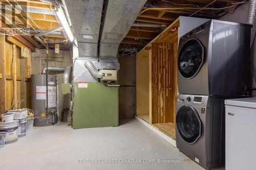
[[[135,18],[133,27],[122,40],[119,54],[127,49],[139,51],[179,16],[219,18],[232,13],[238,6],[248,2],[249,0],[148,0]],[[54,9],[57,3],[60,3],[60,0],[2,0],[0,1],[2,7],[0,23],[11,28],[18,27],[29,31],[23,37],[36,47],[44,48],[41,42],[53,42],[50,47],[54,47],[55,42],[60,43],[60,48],[69,49],[72,45],[62,29],[40,36],[39,41],[34,37],[38,33],[61,26]],[[7,5],[12,10],[5,10],[3,5]],[[15,11],[14,7],[22,9],[21,12]],[[103,15],[104,11],[102,11]]]

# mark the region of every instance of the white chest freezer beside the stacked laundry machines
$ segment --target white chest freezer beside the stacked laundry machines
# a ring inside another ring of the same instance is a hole
[[[256,169],[256,98],[232,99],[226,106],[226,170]]]

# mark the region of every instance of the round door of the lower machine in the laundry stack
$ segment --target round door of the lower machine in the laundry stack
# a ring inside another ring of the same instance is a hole
[[[182,106],[176,115],[177,130],[187,143],[195,143],[201,136],[201,121],[197,111],[189,106]]]

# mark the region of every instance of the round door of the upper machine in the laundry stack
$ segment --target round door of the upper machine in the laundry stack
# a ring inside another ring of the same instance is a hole
[[[179,58],[178,69],[182,77],[186,79],[197,75],[204,62],[204,47],[201,42],[195,38],[189,39],[182,46]]]

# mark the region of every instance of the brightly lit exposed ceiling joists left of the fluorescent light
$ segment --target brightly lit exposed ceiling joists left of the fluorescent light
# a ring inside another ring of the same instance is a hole
[[[34,35],[61,27],[55,12],[57,1],[46,0],[2,0],[1,20],[10,28],[22,28],[26,34],[22,34],[29,42],[38,48],[44,47]],[[53,42],[49,47],[54,47],[54,42],[60,44],[60,48],[69,49],[71,44],[63,29],[39,37],[42,42]]]

